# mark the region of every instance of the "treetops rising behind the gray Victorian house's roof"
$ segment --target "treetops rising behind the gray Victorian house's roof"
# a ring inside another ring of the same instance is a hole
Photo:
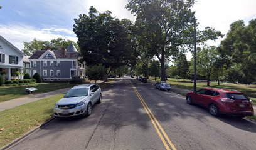
[[[58,50],[61,48],[66,48],[70,45],[70,43],[74,44],[74,46],[77,48],[79,51],[80,48],[77,44],[77,42],[71,41],[71,40],[66,40],[63,38],[58,38],[58,39],[51,39],[51,41],[42,41],[38,39],[33,39],[31,42],[23,42],[24,44],[24,49],[23,52],[31,56],[34,54],[37,50],[46,50],[46,49],[53,49],[53,50]]]

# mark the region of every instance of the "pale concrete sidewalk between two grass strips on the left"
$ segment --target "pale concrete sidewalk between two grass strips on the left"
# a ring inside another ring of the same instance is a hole
[[[0,111],[4,111],[6,109],[10,109],[10,108],[14,108],[16,106],[20,106],[26,103],[30,103],[33,101],[38,101],[40,99],[44,99],[44,98],[48,98],[50,96],[55,96],[56,94],[61,94],[61,93],[66,93],[70,88],[65,88],[65,89],[58,89],[55,91],[51,91],[48,93],[41,93],[41,94],[31,94],[25,97],[21,97],[21,98],[16,98],[16,99],[12,99],[9,101],[4,101],[0,103]]]

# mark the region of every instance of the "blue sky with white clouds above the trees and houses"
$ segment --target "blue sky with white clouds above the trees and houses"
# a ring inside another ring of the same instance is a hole
[[[23,49],[23,42],[34,38],[51,40],[58,37],[77,41],[73,19],[88,14],[90,6],[98,11],[112,11],[119,19],[135,18],[124,7],[127,0],[0,0],[0,35]],[[200,22],[199,29],[215,27],[223,34],[238,19],[246,23],[256,18],[255,0],[197,0],[193,10]],[[218,45],[221,39],[210,44]]]

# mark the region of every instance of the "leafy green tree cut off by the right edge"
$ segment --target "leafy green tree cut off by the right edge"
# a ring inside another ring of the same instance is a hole
[[[235,21],[230,25],[226,38],[221,41],[219,51],[221,57],[227,60],[227,66],[238,73],[238,68],[244,74],[237,78],[239,82],[250,84],[256,81],[256,19]],[[238,73],[241,74],[241,73]],[[233,78],[233,77],[232,77]],[[235,79],[235,78],[233,78]]]

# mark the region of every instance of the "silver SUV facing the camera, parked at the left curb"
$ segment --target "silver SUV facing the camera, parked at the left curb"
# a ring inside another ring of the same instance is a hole
[[[101,100],[101,89],[97,84],[74,86],[55,104],[53,115],[55,118],[90,116],[92,106]]]

